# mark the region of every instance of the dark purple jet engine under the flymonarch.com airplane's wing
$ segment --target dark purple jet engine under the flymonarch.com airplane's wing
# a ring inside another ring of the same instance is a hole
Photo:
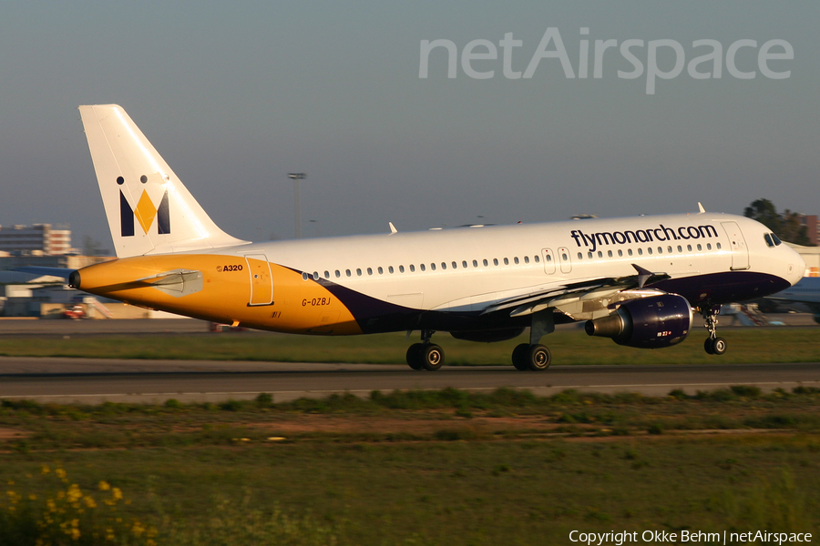
[[[692,328],[692,306],[677,294],[630,299],[609,317],[588,320],[584,328],[590,336],[628,347],[670,347],[686,339]]]

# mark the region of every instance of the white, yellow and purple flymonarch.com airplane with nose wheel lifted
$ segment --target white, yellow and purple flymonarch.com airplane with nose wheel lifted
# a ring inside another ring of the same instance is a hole
[[[492,342],[529,328],[512,363],[538,371],[556,324],[657,349],[687,337],[694,310],[720,355],[721,304],[779,292],[805,269],[762,224],[700,203],[692,215],[251,243],[216,226],[121,106],[79,111],[118,259],[68,272],[71,287],[250,329],[418,331],[416,370],[443,365],[436,331]]]

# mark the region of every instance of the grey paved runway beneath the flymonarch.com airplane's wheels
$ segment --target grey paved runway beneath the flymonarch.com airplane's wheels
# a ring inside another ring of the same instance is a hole
[[[520,372],[511,366],[445,367],[436,372],[405,366],[125,359],[0,358],[0,399],[98,404],[111,402],[219,402],[272,394],[281,402],[372,390],[528,389],[539,396],[564,389],[662,396],[672,389],[753,385],[764,391],[798,385],[820,388],[820,362],[698,366],[554,366]]]

